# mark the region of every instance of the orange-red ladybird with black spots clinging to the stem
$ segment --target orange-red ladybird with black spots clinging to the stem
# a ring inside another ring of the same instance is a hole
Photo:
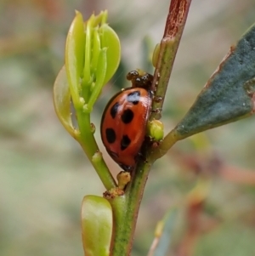
[[[111,158],[125,171],[131,172],[144,142],[150,114],[152,76],[131,71],[127,80],[132,87],[111,98],[101,120],[101,138]]]

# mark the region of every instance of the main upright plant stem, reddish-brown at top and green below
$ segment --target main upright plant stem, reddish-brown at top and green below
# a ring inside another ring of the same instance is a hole
[[[158,100],[159,98],[154,100],[152,110],[161,109],[163,105],[163,96],[167,90],[168,80],[173,68],[173,61],[177,53],[182,32],[184,31],[190,3],[191,0],[172,0],[170,3],[166,29],[161,40],[161,48],[153,81],[153,88],[156,88],[156,90],[153,89],[155,91],[155,97],[161,97],[161,100]],[[154,118],[159,119],[160,115],[153,113],[150,116],[150,120]],[[170,135],[170,138],[168,138],[168,136],[166,140],[167,143],[162,145],[164,152],[178,140],[174,134],[172,135]],[[157,150],[160,149],[157,148],[156,151]],[[153,153],[151,149],[148,151]],[[148,179],[151,164],[155,159],[156,157],[149,156],[147,162],[140,161],[132,174],[132,180],[127,185],[125,195],[110,200],[114,214],[114,234],[112,236],[111,256],[128,256],[131,253],[139,206],[144,194],[144,186]]]

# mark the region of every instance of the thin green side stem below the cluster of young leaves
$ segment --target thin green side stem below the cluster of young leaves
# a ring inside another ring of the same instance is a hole
[[[111,190],[111,188],[116,187],[116,182],[107,168],[104,159],[101,159],[100,164],[92,161],[92,157],[99,151],[99,147],[94,139],[93,129],[88,129],[91,127],[90,114],[84,113],[82,110],[77,111],[77,121],[80,131],[84,131],[84,133],[81,133],[76,139],[88,156],[89,161],[93,164],[99,178],[105,185],[105,189]]]

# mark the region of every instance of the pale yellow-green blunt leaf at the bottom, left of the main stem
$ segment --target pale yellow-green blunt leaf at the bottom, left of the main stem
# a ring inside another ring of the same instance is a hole
[[[111,204],[104,197],[84,196],[82,242],[86,256],[109,256],[112,235]]]

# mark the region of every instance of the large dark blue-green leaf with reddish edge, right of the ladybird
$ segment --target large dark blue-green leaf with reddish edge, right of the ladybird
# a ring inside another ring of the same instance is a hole
[[[184,139],[255,111],[255,26],[232,46],[174,131]]]

